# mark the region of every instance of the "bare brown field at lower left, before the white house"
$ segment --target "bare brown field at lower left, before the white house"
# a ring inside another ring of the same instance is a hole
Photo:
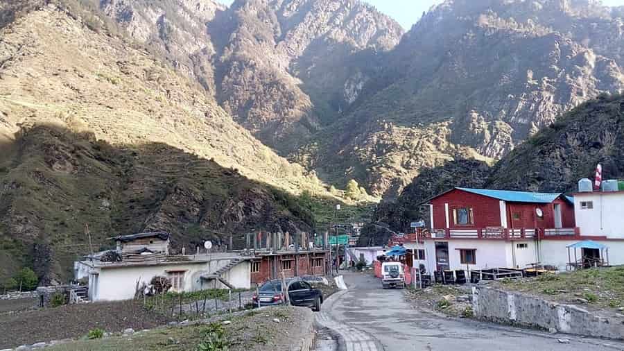
[[[19,306],[18,306],[19,307]],[[52,340],[80,338],[89,330],[120,332],[164,325],[164,316],[146,311],[142,302],[102,302],[0,314],[0,349]]]

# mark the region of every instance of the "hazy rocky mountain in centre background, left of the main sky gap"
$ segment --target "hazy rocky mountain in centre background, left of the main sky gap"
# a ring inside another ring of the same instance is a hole
[[[87,1],[87,0],[83,0]],[[340,117],[403,34],[356,0],[102,0],[137,41],[196,78],[286,155]]]

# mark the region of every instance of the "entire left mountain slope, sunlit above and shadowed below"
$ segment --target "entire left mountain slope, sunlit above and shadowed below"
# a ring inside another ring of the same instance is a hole
[[[0,279],[27,265],[43,282],[64,281],[90,250],[85,225],[95,250],[155,229],[179,249],[248,230],[311,230],[291,194],[336,200],[97,8],[2,6]]]

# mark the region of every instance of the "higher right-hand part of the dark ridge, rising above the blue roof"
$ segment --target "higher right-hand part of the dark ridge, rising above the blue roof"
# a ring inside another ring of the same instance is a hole
[[[603,164],[604,179],[624,176],[624,97],[603,95],[565,114],[494,166],[487,185],[529,191],[575,191]]]

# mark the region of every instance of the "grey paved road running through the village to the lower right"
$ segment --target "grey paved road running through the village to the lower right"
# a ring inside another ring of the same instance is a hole
[[[324,304],[317,318],[346,336],[347,351],[624,350],[624,343],[615,341],[432,316],[406,302],[404,291],[381,289],[370,275],[345,273],[345,282],[349,291]]]

